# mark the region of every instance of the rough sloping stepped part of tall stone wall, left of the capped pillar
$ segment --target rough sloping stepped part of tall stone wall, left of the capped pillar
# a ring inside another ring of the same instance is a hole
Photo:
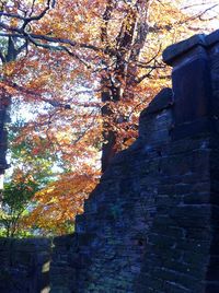
[[[163,104],[166,93],[170,103]],[[138,141],[115,157],[85,203],[85,213],[77,219],[76,292],[135,290],[158,212],[161,145],[170,140],[172,96],[166,90],[158,97],[160,105],[152,103],[141,115]]]

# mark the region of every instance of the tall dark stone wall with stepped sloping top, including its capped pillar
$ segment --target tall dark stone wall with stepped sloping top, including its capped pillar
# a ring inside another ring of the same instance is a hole
[[[77,218],[65,292],[219,292],[219,32],[163,56],[173,89]]]

